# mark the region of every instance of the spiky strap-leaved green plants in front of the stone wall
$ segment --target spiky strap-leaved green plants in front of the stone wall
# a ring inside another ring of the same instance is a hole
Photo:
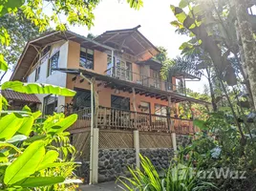
[[[200,168],[194,168],[193,160],[185,160],[181,155],[179,159],[170,162],[169,168],[163,177],[160,177],[150,159],[140,155],[139,168],[128,167],[131,178],[120,177],[118,181],[124,186],[123,190],[148,191],[200,191],[217,189],[213,183],[201,180]]]

